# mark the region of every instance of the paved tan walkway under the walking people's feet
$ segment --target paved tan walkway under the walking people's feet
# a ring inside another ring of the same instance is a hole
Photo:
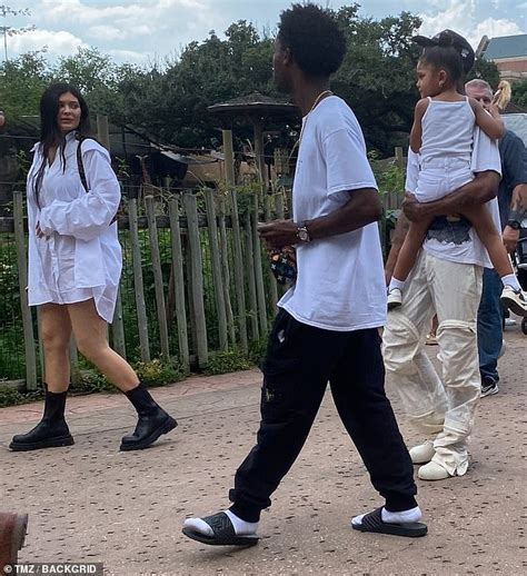
[[[20,562],[103,562],[119,576],[527,574],[527,337],[515,327],[506,339],[500,393],[481,400],[469,473],[418,480],[426,538],[350,529],[351,515],[380,500],[327,395],[262,516],[260,544],[232,550],[187,540],[185,517],[228,505],[232,474],[255,441],[260,375],[250,370],[155,389],[180,426],[143,451],[118,451],[135,425],[120,395],[71,398],[77,444],[34,453],[7,445],[39,419],[41,405],[0,409],[1,508],[30,513]],[[418,441],[399,420],[408,443]]]

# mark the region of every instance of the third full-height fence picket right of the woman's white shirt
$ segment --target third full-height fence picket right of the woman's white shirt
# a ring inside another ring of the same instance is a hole
[[[187,334],[187,311],[185,308],[183,252],[181,249],[181,228],[179,226],[179,199],[168,203],[170,216],[170,239],[172,246],[172,269],[175,276],[176,317],[178,320],[179,359],[185,371],[190,369],[189,342]]]

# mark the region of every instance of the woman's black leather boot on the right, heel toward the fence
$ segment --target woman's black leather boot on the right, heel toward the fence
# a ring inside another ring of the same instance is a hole
[[[121,450],[141,450],[152,445],[159,436],[173,430],[178,423],[150,396],[143,384],[126,393],[139,419],[133,434],[121,440]]]

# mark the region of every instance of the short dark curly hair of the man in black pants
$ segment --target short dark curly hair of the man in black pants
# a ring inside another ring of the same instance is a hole
[[[278,40],[308,76],[327,78],[346,54],[346,38],[329,11],[315,4],[292,4],[280,14]]]

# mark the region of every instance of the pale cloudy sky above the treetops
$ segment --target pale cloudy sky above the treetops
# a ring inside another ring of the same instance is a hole
[[[47,47],[48,58],[74,53],[93,46],[117,62],[145,63],[177,54],[210,30],[218,36],[238,20],[259,30],[275,29],[286,0],[2,0],[12,9],[28,8],[31,16],[8,17],[0,26],[37,29],[8,38],[8,56]],[[339,8],[350,2],[324,0]],[[527,0],[370,0],[359,2],[360,13],[376,19],[409,11],[422,19],[421,33],[451,28],[474,48],[489,38],[527,32]],[[1,44],[0,44],[1,47]],[[3,47],[1,47],[3,48]],[[3,49],[0,51],[3,59]]]

